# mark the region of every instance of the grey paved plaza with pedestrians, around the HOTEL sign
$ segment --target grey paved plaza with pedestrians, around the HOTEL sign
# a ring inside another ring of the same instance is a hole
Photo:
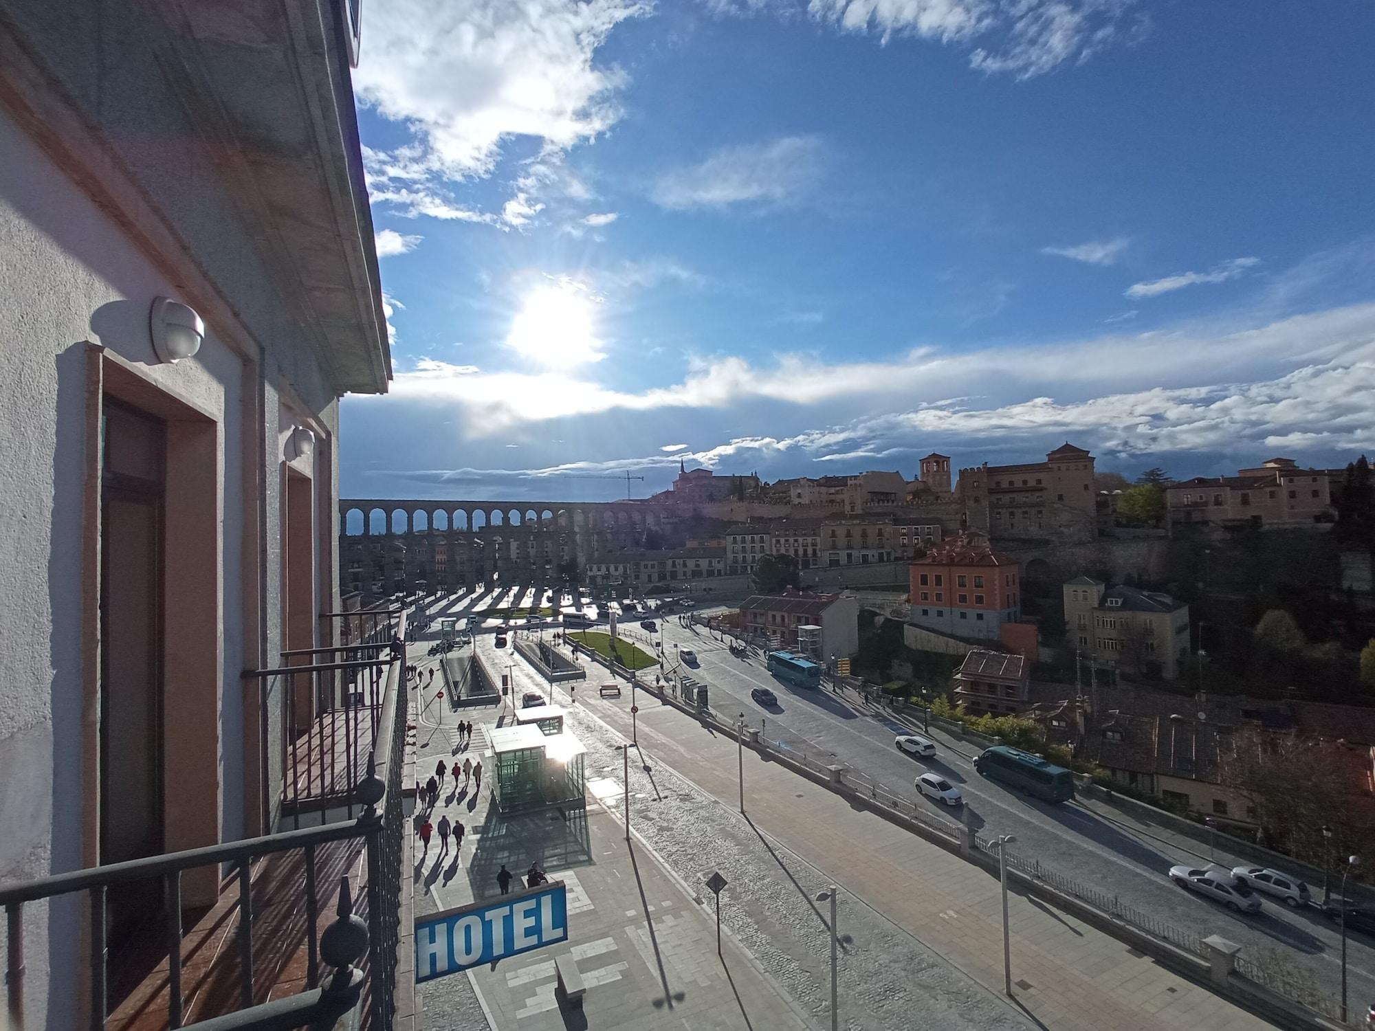
[[[507,720],[509,713],[506,709]],[[473,746],[458,753],[459,762],[481,753],[483,731],[496,724],[500,711],[461,715],[478,729]],[[450,733],[436,733],[421,752],[421,774],[428,777],[440,757],[451,762],[451,751]],[[490,774],[488,766],[484,762]],[[588,764],[597,790],[619,797],[620,767],[605,777],[601,773]],[[451,844],[444,856],[437,832],[429,850],[417,840],[415,913],[498,895],[502,863],[520,876],[538,862],[550,880],[568,887],[569,942],[418,986],[424,1027],[466,1030],[485,1023],[502,1031],[807,1031],[796,1005],[729,933],[722,955],[716,955],[715,924],[705,910],[660,867],[650,850],[638,841],[627,845],[624,825],[600,801],[590,799],[580,810],[516,817],[502,817],[490,803],[487,790],[463,789],[462,774],[458,785],[446,779],[430,821],[437,825],[443,814],[462,819],[468,834],[461,852]],[[576,958],[587,987],[580,1012],[556,999],[554,957],[565,951]]]

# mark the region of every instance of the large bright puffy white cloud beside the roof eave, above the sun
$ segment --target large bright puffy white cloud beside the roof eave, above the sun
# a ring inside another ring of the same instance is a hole
[[[539,180],[562,151],[615,125],[627,78],[595,65],[594,55],[616,25],[649,10],[637,0],[377,0],[353,88],[384,118],[404,124],[411,140],[374,154],[374,202],[494,221],[454,205],[446,180],[490,176],[517,137],[539,144],[540,159],[525,170]],[[587,195],[571,179],[562,188]]]

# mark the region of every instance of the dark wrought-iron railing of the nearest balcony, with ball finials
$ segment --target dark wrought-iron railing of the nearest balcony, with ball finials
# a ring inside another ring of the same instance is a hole
[[[349,665],[349,664],[336,664]],[[59,896],[84,894],[88,903],[88,999],[87,1026],[104,1031],[110,1013],[109,983],[109,896],[111,888],[136,881],[161,881],[166,942],[166,1020],[180,1028],[187,999],[182,983],[182,874],[197,867],[216,867],[232,873],[238,892],[234,910],[238,965],[221,969],[239,980],[239,1006],[227,1013],[206,1015],[190,1027],[201,1031],[228,1028],[333,1027],[333,1020],[364,1006],[356,1027],[390,1031],[396,1013],[396,962],[400,943],[402,856],[404,845],[404,811],[402,775],[407,727],[404,657],[363,660],[353,667],[380,669],[374,686],[378,694],[375,716],[370,715],[373,740],[358,779],[348,796],[362,812],[356,818],[320,826],[283,830],[261,837],[191,848],[166,855],[96,866],[22,884],[0,887],[0,906],[7,920],[7,1015],[16,1026],[23,1019],[23,940],[25,906]],[[296,671],[300,672],[300,671]],[[319,935],[319,888],[316,883],[322,848],[336,843],[362,841],[367,856],[367,928],[352,911],[351,887],[340,885],[338,920],[326,935]],[[298,995],[258,1002],[271,986],[256,983],[254,957],[271,965],[283,943],[271,940],[264,950],[254,943],[253,872],[257,863],[290,856],[304,867],[307,949],[305,986]],[[334,931],[333,928],[341,928]],[[322,962],[333,968],[322,979]],[[362,960],[360,968],[355,966]]]

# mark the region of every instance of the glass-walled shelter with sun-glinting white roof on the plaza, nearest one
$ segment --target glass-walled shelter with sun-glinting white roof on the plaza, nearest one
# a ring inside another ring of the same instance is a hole
[[[491,731],[491,742],[492,789],[500,812],[582,804],[586,749],[573,734],[546,734],[531,722],[498,727]]]

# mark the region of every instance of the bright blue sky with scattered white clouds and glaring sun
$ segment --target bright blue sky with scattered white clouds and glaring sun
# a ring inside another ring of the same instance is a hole
[[[1367,0],[373,0],[395,379],[342,401],[342,494],[1066,440],[1128,476],[1345,465],[1372,43]]]

